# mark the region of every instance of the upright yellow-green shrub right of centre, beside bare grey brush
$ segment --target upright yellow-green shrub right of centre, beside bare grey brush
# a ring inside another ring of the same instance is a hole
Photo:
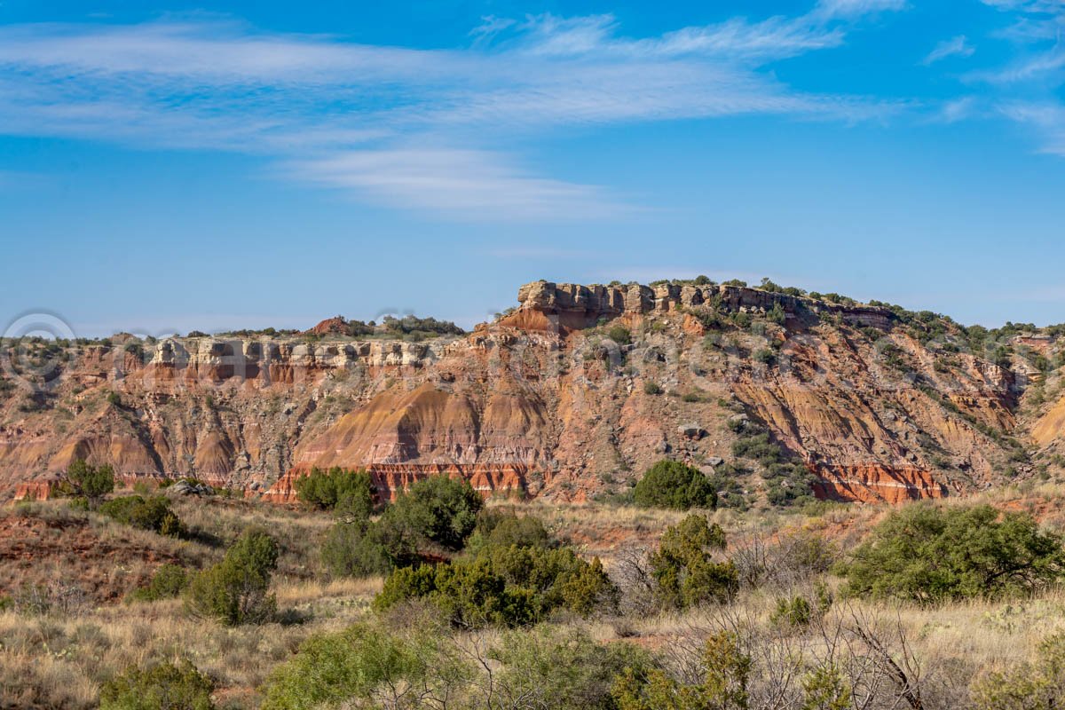
[[[732,562],[716,562],[712,557],[724,548],[721,526],[710,525],[703,515],[689,515],[667,528],[651,556],[660,604],[684,609],[731,599],[739,589],[739,574]]]

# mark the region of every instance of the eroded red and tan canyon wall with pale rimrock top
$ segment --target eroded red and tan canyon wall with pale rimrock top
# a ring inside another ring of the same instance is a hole
[[[450,475],[583,500],[673,458],[760,502],[765,462],[735,453],[751,431],[807,473],[773,485],[828,499],[1060,473],[1055,337],[974,347],[934,314],[701,281],[534,282],[492,323],[426,340],[331,318],[296,335],[6,342],[0,494],[45,497],[86,459],[128,483],[191,477],[279,502],[331,466],[367,469],[382,496]]]

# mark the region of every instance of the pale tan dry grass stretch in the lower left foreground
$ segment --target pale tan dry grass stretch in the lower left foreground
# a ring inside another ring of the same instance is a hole
[[[129,665],[189,658],[231,707],[255,707],[271,670],[312,633],[363,617],[380,580],[282,581],[282,617],[225,628],[189,617],[180,601],[102,607],[77,616],[0,613],[0,697],[15,707],[92,708],[100,684]],[[0,706],[7,707],[3,704]]]

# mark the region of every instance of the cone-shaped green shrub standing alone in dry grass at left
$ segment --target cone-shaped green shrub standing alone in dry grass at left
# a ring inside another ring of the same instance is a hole
[[[277,601],[268,593],[277,557],[273,538],[260,529],[247,530],[222,562],[193,577],[185,590],[185,609],[227,626],[269,621],[277,611]]]

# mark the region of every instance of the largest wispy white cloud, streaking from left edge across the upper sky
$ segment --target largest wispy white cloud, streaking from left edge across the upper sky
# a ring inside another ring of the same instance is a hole
[[[806,94],[769,65],[839,46],[897,0],[822,0],[659,36],[610,15],[486,18],[470,47],[422,50],[217,20],[0,28],[0,132],[273,158],[295,179],[409,209],[542,219],[619,213],[604,189],[499,151],[588,123],[747,114],[861,120],[898,111]]]

